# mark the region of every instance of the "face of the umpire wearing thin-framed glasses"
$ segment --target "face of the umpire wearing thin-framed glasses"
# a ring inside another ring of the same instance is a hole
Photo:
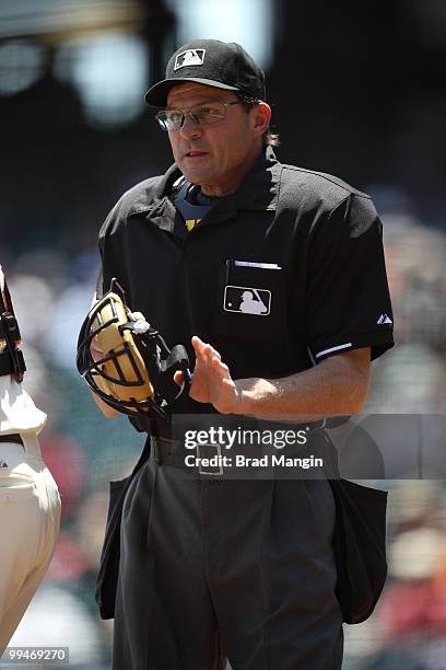
[[[185,83],[169,91],[167,106],[187,112],[213,101],[237,100],[232,91]],[[242,104],[226,106],[225,117],[209,125],[186,114],[181,128],[168,134],[176,164],[206,195],[222,196],[236,190],[261,151],[270,115],[266,103],[249,111]]]

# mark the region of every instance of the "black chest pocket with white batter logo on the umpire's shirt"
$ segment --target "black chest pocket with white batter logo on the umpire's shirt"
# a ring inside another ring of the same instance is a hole
[[[226,259],[219,272],[214,332],[221,338],[274,344],[283,338],[284,270]]]

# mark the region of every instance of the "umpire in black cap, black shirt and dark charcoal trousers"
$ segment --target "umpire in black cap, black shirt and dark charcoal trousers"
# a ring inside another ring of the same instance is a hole
[[[138,421],[152,449],[124,504],[113,667],[212,670],[224,650],[234,670],[339,669],[327,480],[186,467],[172,423],[293,419],[313,451],[328,417],[360,412],[392,345],[379,219],[344,182],[278,161],[239,45],[184,45],[145,100],[175,164],[105,221],[102,288],[117,277],[195,369],[172,421]]]

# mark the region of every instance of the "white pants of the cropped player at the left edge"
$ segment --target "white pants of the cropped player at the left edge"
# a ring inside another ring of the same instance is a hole
[[[0,657],[50,564],[60,523],[38,439],[21,437],[24,447],[0,442]]]

